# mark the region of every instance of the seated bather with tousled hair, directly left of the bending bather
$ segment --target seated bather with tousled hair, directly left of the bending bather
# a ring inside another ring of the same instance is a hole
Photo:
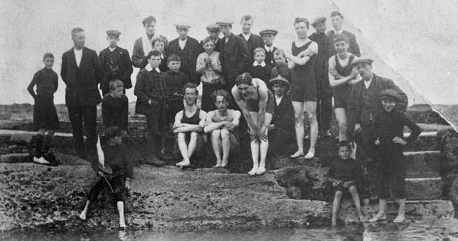
[[[216,165],[213,167],[226,167],[229,154],[240,150],[234,131],[240,122],[241,113],[228,109],[230,98],[228,91],[215,90],[212,97],[217,109],[208,112],[203,131],[211,133],[211,143],[216,156]]]

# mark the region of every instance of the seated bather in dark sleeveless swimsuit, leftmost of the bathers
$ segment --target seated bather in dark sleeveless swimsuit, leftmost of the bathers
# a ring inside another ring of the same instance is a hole
[[[191,156],[199,152],[207,141],[206,136],[202,135],[207,113],[196,105],[199,96],[197,86],[188,83],[183,90],[185,108],[175,115],[175,123],[172,126],[173,133],[177,134],[178,148],[183,157],[183,161],[178,162],[176,166],[182,168],[191,165]]]

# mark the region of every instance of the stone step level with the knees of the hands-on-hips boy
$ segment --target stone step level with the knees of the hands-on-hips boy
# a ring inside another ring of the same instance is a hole
[[[408,200],[435,200],[443,198],[444,181],[442,178],[406,178]]]

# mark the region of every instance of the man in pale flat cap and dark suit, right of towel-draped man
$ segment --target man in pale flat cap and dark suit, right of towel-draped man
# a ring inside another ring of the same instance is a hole
[[[204,51],[203,47],[197,39],[188,36],[191,28],[189,25],[177,24],[175,27],[179,36],[168,43],[166,54],[167,56],[178,55],[181,60],[180,71],[186,74],[190,82],[198,85],[200,76],[196,73],[196,64],[197,57]]]

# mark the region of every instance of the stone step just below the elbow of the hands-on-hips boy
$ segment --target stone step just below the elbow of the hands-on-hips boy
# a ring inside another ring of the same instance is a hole
[[[440,177],[440,151],[404,152],[406,157],[407,178],[434,178]]]

